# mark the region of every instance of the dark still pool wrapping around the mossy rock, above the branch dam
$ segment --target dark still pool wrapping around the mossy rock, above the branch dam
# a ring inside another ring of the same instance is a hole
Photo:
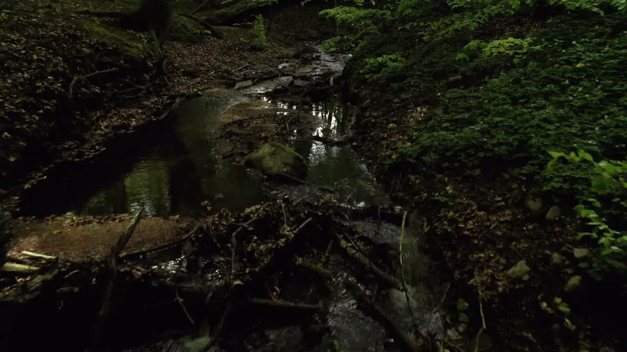
[[[265,103],[253,104],[251,108],[273,108],[279,114],[287,113],[287,109],[300,110],[316,116],[317,137],[340,140],[349,131],[352,122],[339,97],[324,101],[307,98],[295,104],[287,102],[290,99],[264,97],[271,88],[263,83],[236,91],[218,90],[181,103],[174,121],[161,130],[137,137],[133,147],[121,147],[109,163],[63,174],[56,183],[51,181],[52,185],[45,187],[46,195],[33,193],[33,200],[37,201],[31,202],[25,215],[68,211],[109,215],[142,209],[149,217],[194,216],[205,209],[205,201],[216,212],[240,211],[277,194],[308,196],[312,200],[322,197],[322,190],[301,184],[273,184],[278,192],[272,187],[268,190],[260,180],[251,178],[246,168],[213,152],[218,147],[218,116],[238,103],[253,101],[255,96]],[[352,148],[301,137],[294,131],[288,145],[307,160],[307,182],[337,191],[337,201],[350,207],[386,202],[384,189]]]

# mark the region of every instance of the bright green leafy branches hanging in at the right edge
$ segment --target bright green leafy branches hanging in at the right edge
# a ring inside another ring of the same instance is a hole
[[[583,150],[569,154],[549,153],[553,159],[548,168],[565,159],[576,167],[593,169],[589,190],[594,197],[583,200],[574,208],[591,229],[579,232],[577,239],[590,237],[598,244],[592,266],[585,262],[582,266],[589,267],[595,277],[601,277],[603,271],[627,273],[627,230],[624,230],[627,227],[627,162],[595,162],[592,155]]]

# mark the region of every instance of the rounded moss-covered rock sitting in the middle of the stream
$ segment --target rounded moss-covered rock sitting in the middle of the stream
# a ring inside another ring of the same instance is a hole
[[[277,142],[265,143],[261,148],[247,155],[245,165],[270,175],[287,173],[298,177],[307,173],[305,159],[292,148]]]

